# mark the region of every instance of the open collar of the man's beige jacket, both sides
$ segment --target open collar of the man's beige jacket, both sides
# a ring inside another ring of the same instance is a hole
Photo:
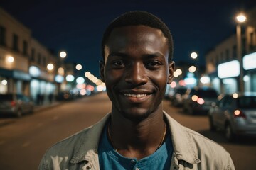
[[[92,159],[98,159],[98,143],[100,141],[102,130],[105,127],[107,120],[110,118],[110,115],[110,113],[105,115],[105,117],[98,123],[82,131],[81,143],[78,144],[78,149],[75,150],[74,156],[70,161],[71,163],[76,164],[85,160],[90,162]],[[172,145],[177,159],[184,160],[190,164],[198,164],[200,159],[197,157],[196,149],[192,145],[192,139],[186,128],[171,118],[165,111],[164,116],[169,123]]]

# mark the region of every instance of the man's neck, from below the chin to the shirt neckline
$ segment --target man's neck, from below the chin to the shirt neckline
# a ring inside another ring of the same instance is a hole
[[[156,151],[164,142],[166,123],[161,117],[139,123],[125,123],[111,118],[108,136],[114,149],[124,157],[141,159]]]

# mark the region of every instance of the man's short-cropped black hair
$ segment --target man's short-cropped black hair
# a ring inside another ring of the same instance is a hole
[[[160,18],[154,16],[153,14],[146,12],[146,11],[129,11],[127,13],[122,14],[121,16],[115,18],[109,26],[107,26],[105,33],[103,34],[102,38],[102,57],[103,61],[105,61],[105,45],[107,43],[110,34],[114,28],[119,28],[123,26],[149,26],[151,28],[157,28],[162,31],[164,37],[168,41],[169,46],[169,57],[168,62],[172,61],[173,58],[173,40],[171,36],[171,32],[166,24],[161,21]]]

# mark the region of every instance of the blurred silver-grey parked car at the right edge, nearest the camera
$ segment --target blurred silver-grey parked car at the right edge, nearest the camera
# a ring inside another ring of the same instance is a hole
[[[210,130],[225,130],[227,140],[236,135],[256,137],[256,93],[222,95],[208,113]]]

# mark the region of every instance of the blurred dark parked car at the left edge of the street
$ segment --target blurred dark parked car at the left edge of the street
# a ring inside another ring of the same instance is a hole
[[[34,103],[23,94],[0,94],[0,114],[21,117],[24,113],[33,113]]]

